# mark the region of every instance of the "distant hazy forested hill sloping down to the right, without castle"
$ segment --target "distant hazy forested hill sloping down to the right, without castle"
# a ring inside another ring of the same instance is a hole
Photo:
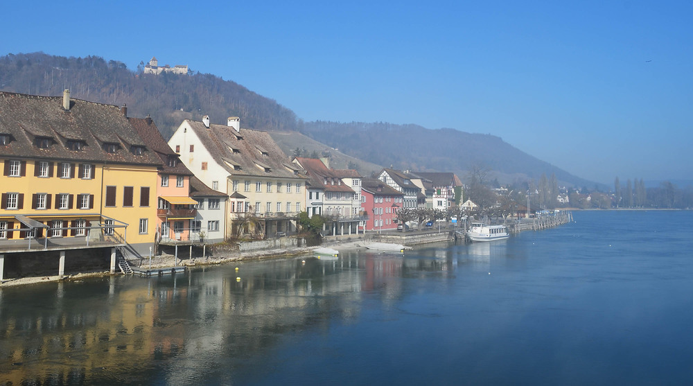
[[[452,171],[464,179],[470,166],[482,166],[501,183],[528,177],[536,181],[542,174],[555,174],[565,184],[595,185],[490,134],[430,130],[419,125],[328,121],[306,122],[303,132],[352,157],[403,170]]]

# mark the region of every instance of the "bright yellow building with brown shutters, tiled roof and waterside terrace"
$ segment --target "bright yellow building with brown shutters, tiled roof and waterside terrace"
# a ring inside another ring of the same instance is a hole
[[[62,98],[0,92],[0,279],[6,259],[27,252],[60,251],[60,274],[66,251],[148,254],[161,160],[126,111],[68,90]]]

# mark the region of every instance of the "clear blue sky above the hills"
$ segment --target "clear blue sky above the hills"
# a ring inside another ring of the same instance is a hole
[[[153,55],[305,121],[493,134],[611,185],[693,179],[692,11],[684,1],[12,1],[0,54],[98,55],[133,70]]]

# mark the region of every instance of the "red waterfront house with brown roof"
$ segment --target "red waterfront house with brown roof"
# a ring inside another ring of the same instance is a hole
[[[368,213],[366,231],[397,229],[397,211],[401,209],[404,193],[374,178],[361,180],[361,208]]]

